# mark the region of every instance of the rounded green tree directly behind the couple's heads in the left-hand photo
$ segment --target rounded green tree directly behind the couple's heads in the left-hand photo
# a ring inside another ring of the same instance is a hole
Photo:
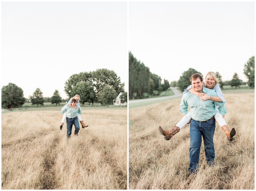
[[[96,93],[94,92],[94,86],[89,81],[80,81],[71,90],[72,95],[78,94],[80,96],[80,102],[84,104],[85,102],[93,104]]]

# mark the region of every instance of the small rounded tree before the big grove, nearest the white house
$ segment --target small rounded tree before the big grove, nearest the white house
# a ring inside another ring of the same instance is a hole
[[[115,100],[116,97],[117,97],[116,90],[114,90],[113,87],[105,86],[102,92],[100,92],[99,101],[103,105],[107,105],[107,104],[111,105],[113,104],[113,100]]]

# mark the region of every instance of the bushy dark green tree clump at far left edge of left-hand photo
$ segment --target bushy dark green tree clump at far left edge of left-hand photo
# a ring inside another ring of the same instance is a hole
[[[18,107],[25,103],[23,90],[13,83],[2,87],[2,107]]]

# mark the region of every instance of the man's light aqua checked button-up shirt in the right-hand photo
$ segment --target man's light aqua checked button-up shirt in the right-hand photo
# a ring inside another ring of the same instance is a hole
[[[201,92],[206,93],[210,96],[217,96],[214,90],[203,87]],[[200,97],[193,93],[184,93],[180,103],[180,112],[183,115],[187,114],[187,108],[190,107],[191,118],[197,121],[206,121],[211,117],[215,116],[215,105],[218,105],[218,110],[222,116],[227,113],[224,102],[217,102],[213,100],[201,101]]]

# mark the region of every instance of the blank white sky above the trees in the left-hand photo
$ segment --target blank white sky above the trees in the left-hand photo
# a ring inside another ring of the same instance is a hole
[[[73,74],[107,68],[128,90],[127,2],[2,2],[2,86],[44,97]]]

